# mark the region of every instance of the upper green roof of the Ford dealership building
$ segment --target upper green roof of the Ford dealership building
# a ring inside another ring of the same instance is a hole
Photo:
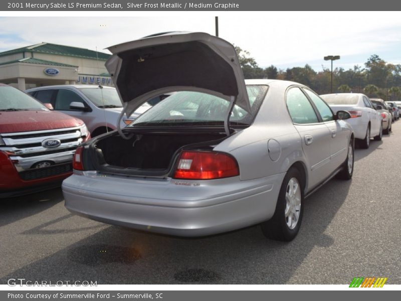
[[[36,45],[31,45],[23,48],[17,48],[9,51],[0,52],[0,56],[22,53],[22,52],[37,52],[37,53],[46,53],[46,54],[54,54],[54,55],[65,55],[72,57],[80,57],[87,59],[99,59],[102,61],[106,61],[110,54],[104,52],[96,52],[94,50],[89,50],[85,48],[78,48],[72,46],[65,45],[57,45],[51,43],[40,43]]]

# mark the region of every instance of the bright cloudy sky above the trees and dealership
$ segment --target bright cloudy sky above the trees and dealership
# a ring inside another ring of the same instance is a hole
[[[87,14],[87,13],[86,13]],[[149,17],[0,17],[0,51],[41,42],[104,48],[166,31],[215,34],[209,14],[157,14]],[[212,13],[213,14],[213,13]],[[340,55],[334,67],[352,68],[372,54],[401,63],[399,12],[214,13],[220,37],[249,51],[259,66],[330,67],[326,55]],[[104,51],[107,52],[107,51]]]

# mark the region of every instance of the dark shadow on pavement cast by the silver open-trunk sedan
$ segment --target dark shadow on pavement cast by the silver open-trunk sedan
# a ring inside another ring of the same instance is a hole
[[[97,284],[292,283],[312,250],[333,245],[327,228],[345,202],[351,182],[331,180],[305,200],[300,233],[288,243],[266,239],[259,226],[190,239],[108,226],[15,269],[0,283],[18,277]],[[310,281],[301,277],[297,283]]]

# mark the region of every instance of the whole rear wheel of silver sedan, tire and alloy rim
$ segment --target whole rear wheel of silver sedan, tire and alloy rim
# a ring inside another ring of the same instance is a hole
[[[303,215],[303,177],[292,167],[284,177],[273,217],[261,224],[270,239],[291,241],[297,236]]]

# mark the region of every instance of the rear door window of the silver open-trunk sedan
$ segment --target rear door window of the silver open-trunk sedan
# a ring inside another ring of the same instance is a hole
[[[316,113],[308,98],[299,88],[291,88],[286,97],[288,112],[294,123],[317,123]]]

